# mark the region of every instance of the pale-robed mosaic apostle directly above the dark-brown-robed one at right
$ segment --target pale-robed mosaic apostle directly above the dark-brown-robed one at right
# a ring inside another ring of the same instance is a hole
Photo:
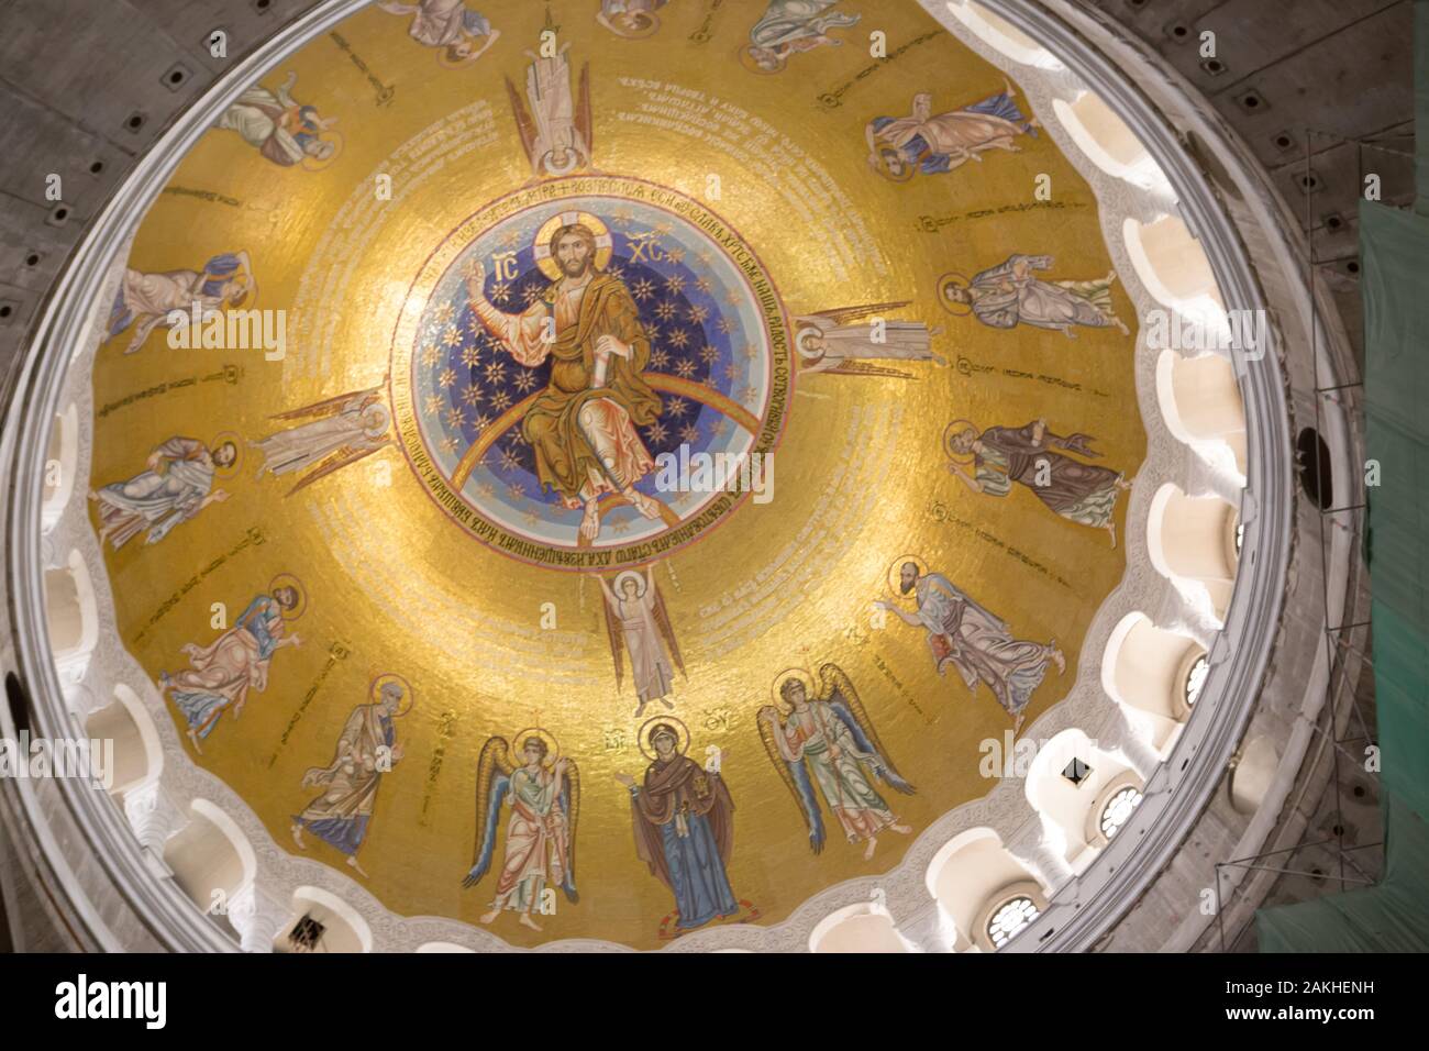
[[[970,285],[945,279],[940,289],[943,305],[949,310],[955,306],[970,309],[977,320],[995,329],[1033,325],[1057,329],[1075,339],[1072,327],[1082,325],[1089,329],[1115,327],[1123,336],[1130,335],[1112,306],[1116,270],[1089,282],[1045,282],[1032,276],[1035,270],[1052,269],[1052,256],[1019,255],[1002,266],[983,270]]]

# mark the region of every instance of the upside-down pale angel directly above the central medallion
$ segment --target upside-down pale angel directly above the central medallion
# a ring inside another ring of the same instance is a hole
[[[532,64],[526,67],[526,99],[510,77],[506,79],[506,93],[512,100],[516,129],[522,146],[532,164],[532,177],[570,174],[577,167],[590,164],[592,117],[590,117],[590,63],[580,67],[580,97],[570,97],[570,61],[566,50],[550,59],[537,59],[527,51]]]

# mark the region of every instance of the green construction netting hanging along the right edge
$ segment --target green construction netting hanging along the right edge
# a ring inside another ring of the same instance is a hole
[[[1429,29],[1426,7],[1418,4],[1420,29]],[[1429,61],[1419,77],[1420,86],[1429,79]],[[1420,127],[1423,173],[1429,123]],[[1429,216],[1363,202],[1359,217],[1365,428],[1380,470],[1368,489],[1366,546],[1385,877],[1376,887],[1260,909],[1262,952],[1429,951]]]

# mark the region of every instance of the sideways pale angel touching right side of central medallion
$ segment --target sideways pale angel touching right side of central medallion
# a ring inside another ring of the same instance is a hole
[[[912,379],[900,369],[867,365],[869,360],[937,362],[932,337],[942,327],[929,329],[923,322],[886,320],[882,315],[907,303],[869,303],[795,317],[795,349],[802,359],[800,373],[832,372],[843,376],[896,376]]]

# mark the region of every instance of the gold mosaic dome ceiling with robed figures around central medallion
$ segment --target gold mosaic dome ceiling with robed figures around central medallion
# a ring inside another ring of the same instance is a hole
[[[1135,312],[912,1],[474,7],[312,40],[144,217],[94,369],[117,626],[191,761],[394,912],[775,922],[1076,681]]]

